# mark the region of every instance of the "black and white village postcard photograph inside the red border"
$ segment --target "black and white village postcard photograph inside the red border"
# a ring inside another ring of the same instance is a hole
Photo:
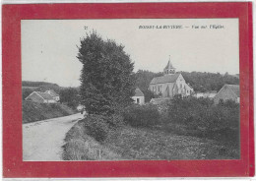
[[[23,160],[240,158],[238,19],[22,20]]]

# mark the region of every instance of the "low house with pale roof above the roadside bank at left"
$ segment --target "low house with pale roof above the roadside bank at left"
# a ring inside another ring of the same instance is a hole
[[[33,91],[26,100],[38,103],[57,103],[57,101],[49,93]]]

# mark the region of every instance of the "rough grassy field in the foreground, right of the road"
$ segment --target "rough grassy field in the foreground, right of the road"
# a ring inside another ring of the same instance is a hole
[[[125,126],[102,143],[87,135],[83,121],[66,136],[66,160],[234,159],[238,152],[209,139]]]

